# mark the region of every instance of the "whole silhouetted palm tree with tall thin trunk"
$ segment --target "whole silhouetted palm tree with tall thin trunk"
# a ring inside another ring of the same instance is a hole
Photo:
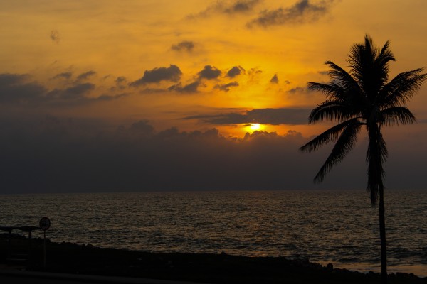
[[[350,50],[349,72],[333,62],[330,67],[330,82],[309,82],[309,89],[325,94],[325,102],[313,109],[309,124],[319,121],[336,121],[337,125],[321,133],[300,148],[312,152],[320,146],[335,142],[332,152],[315,176],[315,182],[322,182],[334,165],[340,163],[354,148],[357,134],[366,126],[369,144],[367,150],[368,185],[371,203],[379,202],[379,231],[381,239],[381,280],[387,281],[386,226],[384,211],[384,168],[387,158],[386,142],[382,136],[383,126],[413,124],[415,116],[405,106],[421,88],[426,75],[423,68],[401,72],[389,80],[389,62],[395,61],[387,41],[381,50],[376,48],[369,35],[364,43],[355,44]]]

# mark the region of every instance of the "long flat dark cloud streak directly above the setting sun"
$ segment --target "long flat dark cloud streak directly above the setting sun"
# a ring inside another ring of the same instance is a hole
[[[229,112],[225,114],[201,114],[186,116],[183,119],[197,119],[205,124],[307,124],[310,109],[253,109],[251,111]]]

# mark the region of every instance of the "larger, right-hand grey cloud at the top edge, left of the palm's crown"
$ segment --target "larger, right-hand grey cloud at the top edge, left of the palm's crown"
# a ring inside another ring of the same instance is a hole
[[[249,21],[246,26],[280,26],[289,24],[312,23],[330,11],[330,6],[334,0],[310,1],[299,0],[293,6],[287,8],[278,8],[274,10],[265,10],[260,13],[258,18]]]

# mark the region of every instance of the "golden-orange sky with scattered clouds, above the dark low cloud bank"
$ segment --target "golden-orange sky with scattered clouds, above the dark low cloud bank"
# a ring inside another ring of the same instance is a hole
[[[424,0],[1,1],[1,118],[307,138],[325,127],[307,126],[323,97],[306,88],[324,62],[347,67],[369,34],[391,41],[391,76],[426,66],[425,18]],[[391,137],[425,139],[426,106],[424,86],[420,123]]]

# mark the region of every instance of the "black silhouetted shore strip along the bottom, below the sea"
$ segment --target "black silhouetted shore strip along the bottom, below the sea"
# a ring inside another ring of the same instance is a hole
[[[1,237],[2,256],[7,251]],[[12,251],[28,251],[28,239],[14,237]],[[1,263],[6,263],[1,258]],[[308,259],[233,256],[227,253],[152,253],[99,248],[90,244],[56,243],[33,239],[31,257],[22,263],[26,271],[75,275],[102,275],[199,283],[379,283],[379,273],[362,273],[332,264],[322,266]],[[389,283],[427,283],[413,273],[390,273]]]

